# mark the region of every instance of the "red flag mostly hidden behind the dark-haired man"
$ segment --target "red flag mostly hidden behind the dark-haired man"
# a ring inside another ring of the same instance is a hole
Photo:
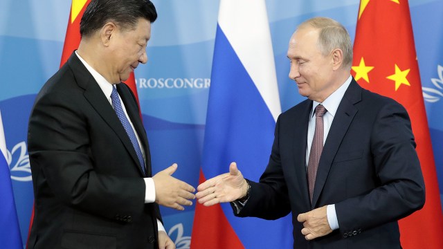
[[[80,44],[80,39],[81,39],[80,21],[82,19],[84,10],[86,10],[86,7],[90,2],[91,0],[72,0],[71,13],[69,14],[68,27],[66,28],[66,37],[64,38],[64,46],[63,46],[62,59],[60,61],[60,67],[64,65],[64,63],[69,59],[73,51],[77,49],[78,45]],[[129,79],[127,79],[125,84],[129,86],[129,88],[136,96],[137,104],[140,107],[140,104],[138,102],[138,94],[137,94],[137,87],[134,78],[134,73],[131,73],[129,75]],[[30,218],[29,232],[30,228],[33,225],[33,219],[34,219],[34,208]],[[29,233],[28,233],[28,239],[29,239]],[[26,248],[28,248],[28,245],[26,245]]]

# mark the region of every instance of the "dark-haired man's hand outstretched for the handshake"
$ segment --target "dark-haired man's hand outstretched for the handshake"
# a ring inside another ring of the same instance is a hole
[[[183,205],[192,205],[192,201],[189,200],[195,199],[193,194],[195,188],[172,177],[177,167],[177,164],[174,163],[167,169],[152,176],[155,184],[155,202],[168,208],[185,210]]]

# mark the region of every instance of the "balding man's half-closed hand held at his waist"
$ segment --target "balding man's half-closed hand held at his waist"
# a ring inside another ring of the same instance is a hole
[[[303,223],[302,234],[306,240],[316,239],[332,232],[327,221],[326,206],[298,214],[297,221]]]

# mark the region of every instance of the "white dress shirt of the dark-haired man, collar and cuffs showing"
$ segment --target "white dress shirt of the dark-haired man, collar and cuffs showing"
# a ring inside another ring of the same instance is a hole
[[[112,88],[116,87],[114,84],[109,83],[105,77],[100,75],[92,66],[90,66],[78,53],[75,51],[75,55],[80,59],[80,61],[84,64],[84,66],[87,68],[89,73],[91,73],[92,77],[96,80],[98,83],[98,86],[100,86],[100,89],[102,89],[103,93],[105,94],[107,100],[109,101],[109,104],[112,106],[112,100],[111,100],[111,93]],[[143,154],[143,160],[146,161],[146,155],[145,150],[143,149],[143,146],[141,145],[141,140],[138,137],[136,129],[134,129],[134,124],[132,124],[131,119],[129,116],[127,116],[126,107],[123,103],[122,99],[120,98],[120,104],[123,107],[123,111],[125,112],[125,116],[127,120],[129,121],[129,124],[131,124],[132,130],[134,130],[134,133],[136,134],[138,146],[141,149],[141,153]],[[155,201],[155,185],[154,180],[152,178],[143,178],[145,181],[146,189],[145,189],[145,203],[153,203]],[[163,227],[163,224],[157,219],[157,225],[159,226],[159,231],[165,231],[165,228]]]

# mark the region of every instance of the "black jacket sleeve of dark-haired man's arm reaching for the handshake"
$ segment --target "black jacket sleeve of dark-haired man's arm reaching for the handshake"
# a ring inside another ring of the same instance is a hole
[[[96,170],[100,162],[91,156],[89,134],[94,124],[82,108],[69,89],[43,94],[36,101],[28,150],[39,196],[57,200],[54,205],[64,203],[110,219],[116,215],[136,218],[145,208],[143,178]],[[103,151],[107,146],[112,145],[104,145]]]

